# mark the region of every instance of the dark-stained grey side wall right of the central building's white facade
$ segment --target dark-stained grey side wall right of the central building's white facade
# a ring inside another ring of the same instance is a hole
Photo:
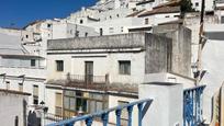
[[[146,34],[145,73],[168,71],[171,39]]]

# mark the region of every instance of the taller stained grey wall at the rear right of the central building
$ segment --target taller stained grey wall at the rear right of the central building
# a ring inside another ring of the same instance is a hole
[[[160,25],[153,28],[159,34],[172,39],[170,71],[190,77],[191,72],[191,31],[177,24]]]

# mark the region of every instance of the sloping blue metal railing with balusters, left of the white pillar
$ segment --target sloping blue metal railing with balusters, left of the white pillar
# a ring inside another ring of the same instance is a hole
[[[91,126],[96,117],[100,117],[103,126],[107,126],[109,123],[109,114],[112,112],[115,112],[115,115],[116,115],[116,126],[121,126],[121,114],[122,114],[122,111],[125,108],[127,110],[127,113],[128,113],[127,126],[132,126],[132,112],[135,105],[138,108],[138,126],[142,126],[142,119],[145,116],[153,100],[150,99],[141,100],[141,101],[132,102],[125,105],[120,105],[120,106],[112,107],[105,111],[101,111],[98,113],[88,114],[83,116],[77,116],[75,118],[61,121],[58,123],[53,123],[47,126],[64,126],[64,125],[74,126],[75,123],[80,122],[80,121],[85,121],[87,126]]]

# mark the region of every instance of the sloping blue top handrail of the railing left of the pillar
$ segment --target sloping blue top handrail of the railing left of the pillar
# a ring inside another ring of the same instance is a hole
[[[122,111],[123,108],[133,107],[134,105],[138,105],[138,104],[144,104],[144,103],[150,104],[152,102],[153,102],[152,99],[139,100],[139,101],[132,102],[132,103],[128,103],[128,104],[119,105],[119,106],[115,106],[115,107],[112,107],[112,108],[108,108],[105,111],[100,111],[100,112],[97,112],[97,113],[93,113],[93,114],[87,114],[87,115],[83,115],[83,116],[77,116],[75,118],[61,121],[61,122],[58,122],[58,123],[53,123],[53,124],[49,124],[47,126],[58,126],[58,125],[65,125],[65,124],[69,124],[69,123],[76,123],[76,122],[79,122],[79,121],[86,121],[88,118],[100,117],[103,114],[109,114],[111,112]]]

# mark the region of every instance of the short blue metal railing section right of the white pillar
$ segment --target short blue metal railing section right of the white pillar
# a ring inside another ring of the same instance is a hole
[[[205,85],[183,91],[183,126],[198,126],[202,121],[202,94]]]

